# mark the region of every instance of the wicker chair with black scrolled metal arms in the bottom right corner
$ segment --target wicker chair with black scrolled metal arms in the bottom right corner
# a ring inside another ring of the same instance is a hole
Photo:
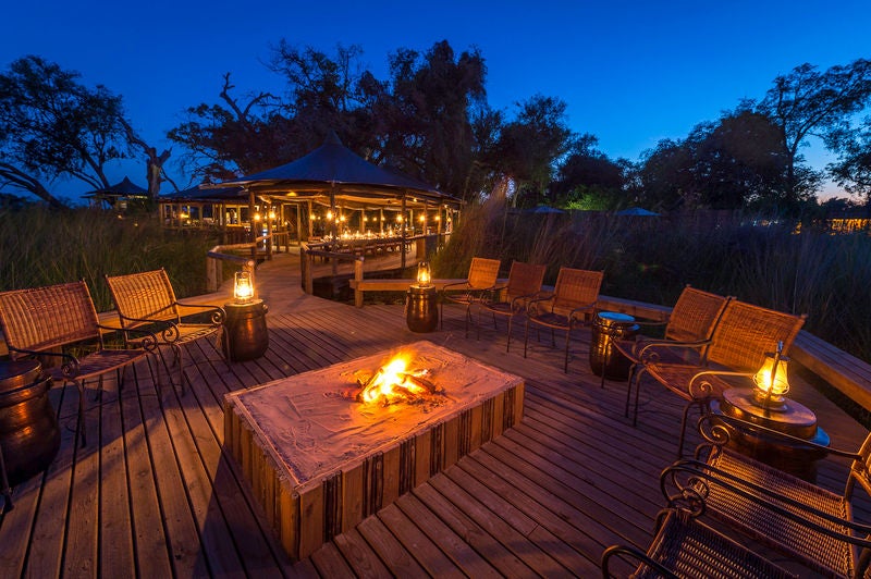
[[[871,434],[858,452],[819,446],[728,416],[699,420],[704,443],[696,458],[678,460],[661,477],[673,505],[698,502],[711,517],[829,577],[866,577],[871,560],[871,526],[854,520],[859,484],[871,495]],[[805,445],[851,461],[843,494],[831,492],[731,449],[729,436]]]

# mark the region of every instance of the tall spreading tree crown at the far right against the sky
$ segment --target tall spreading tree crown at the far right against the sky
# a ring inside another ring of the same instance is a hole
[[[849,118],[870,99],[871,61],[864,59],[822,73],[806,63],[774,79],[774,87],[759,103],[758,111],[777,126],[787,152],[783,190],[787,208],[795,209],[808,199],[820,183],[818,172],[800,167],[800,147],[810,136],[831,144],[833,135],[841,134]]]

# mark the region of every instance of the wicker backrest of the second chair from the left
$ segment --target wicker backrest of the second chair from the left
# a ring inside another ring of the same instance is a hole
[[[137,325],[130,318],[181,321],[175,292],[162,268],[126,275],[107,275],[106,283],[109,284],[123,328]]]

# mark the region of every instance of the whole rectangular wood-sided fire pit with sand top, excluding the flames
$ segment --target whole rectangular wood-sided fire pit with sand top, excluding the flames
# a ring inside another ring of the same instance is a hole
[[[346,395],[387,352],[224,399],[224,446],[287,554],[305,558],[523,418],[523,379],[430,342],[401,348],[444,395],[367,405]],[[344,393],[344,394],[343,394]]]

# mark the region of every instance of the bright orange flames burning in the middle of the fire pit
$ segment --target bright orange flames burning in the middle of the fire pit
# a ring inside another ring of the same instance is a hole
[[[363,390],[357,394],[361,403],[379,403],[382,406],[407,402],[410,404],[428,399],[434,394],[444,394],[444,389],[436,385],[430,379],[430,370],[409,370],[407,356],[398,355],[367,380],[357,379]]]

